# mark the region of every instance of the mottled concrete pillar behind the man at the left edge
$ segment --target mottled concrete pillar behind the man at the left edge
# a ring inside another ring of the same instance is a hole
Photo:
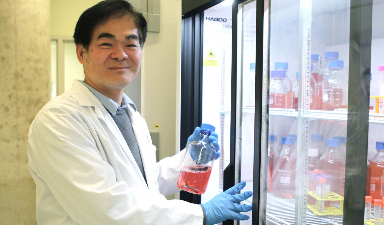
[[[27,135],[50,99],[50,0],[0,1],[0,223],[36,224]]]

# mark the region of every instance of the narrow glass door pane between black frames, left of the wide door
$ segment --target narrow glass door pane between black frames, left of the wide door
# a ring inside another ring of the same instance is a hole
[[[237,5],[237,106],[235,139],[235,184],[245,181],[241,192],[253,190],[253,150],[255,135],[256,1]],[[252,198],[242,202],[252,204]],[[252,212],[243,213],[252,224]],[[237,223],[237,222],[235,222]]]

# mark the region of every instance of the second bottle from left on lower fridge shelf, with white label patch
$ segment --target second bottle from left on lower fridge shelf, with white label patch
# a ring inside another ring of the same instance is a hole
[[[273,194],[276,197],[292,199],[295,197],[296,149],[293,137],[282,138],[283,148],[276,160],[273,173]]]

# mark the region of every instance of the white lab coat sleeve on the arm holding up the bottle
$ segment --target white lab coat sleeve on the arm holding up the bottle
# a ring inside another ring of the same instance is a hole
[[[157,162],[157,182],[159,183],[160,193],[164,196],[175,194],[180,189],[177,187],[181,165],[185,156],[185,149],[172,157],[166,157]]]

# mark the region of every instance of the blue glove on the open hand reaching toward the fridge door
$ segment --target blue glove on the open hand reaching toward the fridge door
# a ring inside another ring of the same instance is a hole
[[[240,212],[252,210],[252,205],[239,205],[241,202],[252,196],[252,191],[236,194],[245,187],[245,182],[240,182],[225,192],[216,195],[213,199],[200,204],[207,216],[207,225],[217,224],[225,220],[248,220],[249,216]]]

